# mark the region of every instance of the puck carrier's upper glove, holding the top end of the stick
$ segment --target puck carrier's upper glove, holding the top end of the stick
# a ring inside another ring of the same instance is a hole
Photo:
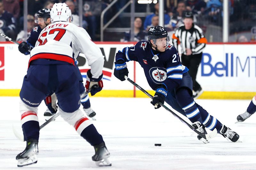
[[[124,81],[125,78],[124,76],[128,77],[128,69],[127,69],[127,64],[121,60],[121,61],[117,61],[115,62],[115,70],[114,70],[114,75],[116,76],[116,78],[118,78],[121,81]]]

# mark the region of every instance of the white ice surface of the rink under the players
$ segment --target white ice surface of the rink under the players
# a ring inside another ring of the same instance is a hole
[[[196,133],[164,108],[154,109],[149,98],[90,100],[97,113],[93,124],[105,140],[112,166],[97,167],[91,159],[93,147],[59,116],[40,130],[37,164],[21,169],[256,169],[256,116],[235,124],[250,100],[196,100],[240,135],[233,143],[218,134],[209,144],[197,140]],[[19,97],[0,97],[0,103],[0,169],[18,169],[15,157],[26,145],[12,130],[21,126]],[[45,109],[44,103],[39,106],[40,125]]]

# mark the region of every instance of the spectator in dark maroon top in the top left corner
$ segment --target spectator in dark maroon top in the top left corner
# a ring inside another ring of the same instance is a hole
[[[20,4],[18,0],[3,0],[4,10],[11,13],[13,17],[16,19],[19,18],[20,15]]]

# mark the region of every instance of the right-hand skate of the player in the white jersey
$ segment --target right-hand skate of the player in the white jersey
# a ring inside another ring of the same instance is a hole
[[[92,160],[95,161],[97,166],[111,166],[109,160],[110,153],[104,142],[99,145],[94,145],[95,154],[92,156]]]

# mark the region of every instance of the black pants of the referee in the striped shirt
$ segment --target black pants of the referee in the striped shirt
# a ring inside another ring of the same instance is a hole
[[[201,89],[201,86],[196,81],[196,74],[198,70],[198,66],[201,63],[203,53],[194,54],[194,55],[181,55],[181,63],[182,65],[188,67],[188,73],[193,81],[193,90],[196,92]]]

